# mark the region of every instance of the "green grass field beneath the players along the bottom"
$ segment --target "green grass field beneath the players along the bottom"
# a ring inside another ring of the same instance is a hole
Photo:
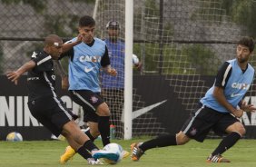
[[[113,141],[120,143],[123,148],[130,151],[130,143],[145,141]],[[256,141],[241,140],[231,150],[224,154],[231,163],[207,163],[206,157],[220,140],[206,140],[203,143],[189,142],[183,146],[165,147],[149,150],[143,155],[140,162],[131,162],[130,158],[124,159],[115,166],[123,167],[255,167],[256,166]],[[102,147],[101,142],[96,141]],[[64,152],[67,142],[40,141],[40,142],[0,142],[0,167],[82,167],[89,166],[78,154],[71,162],[65,165],[58,163],[60,155]],[[105,166],[105,165],[104,165]],[[111,165],[107,165],[111,166]]]

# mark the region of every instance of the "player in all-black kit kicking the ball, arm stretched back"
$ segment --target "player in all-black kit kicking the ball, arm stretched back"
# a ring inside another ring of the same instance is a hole
[[[67,142],[84,157],[87,150],[93,153],[89,158],[93,163],[98,158],[111,158],[113,153],[99,151],[90,141],[88,136],[81,132],[74,119],[77,118],[71,111],[66,109],[64,103],[55,93],[55,74],[53,59],[58,59],[63,52],[63,41],[55,35],[50,34],[44,40],[44,50],[34,52],[31,60],[22,65],[14,72],[6,75],[9,80],[17,84],[18,78],[28,72],[28,107],[34,118],[44,124],[54,135],[63,134]]]

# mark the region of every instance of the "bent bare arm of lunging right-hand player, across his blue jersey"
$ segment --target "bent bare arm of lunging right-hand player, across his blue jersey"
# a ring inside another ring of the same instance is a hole
[[[235,115],[236,117],[240,118],[242,116],[243,111],[241,109],[234,108],[231,103],[228,103],[225,95],[224,90],[222,87],[215,86],[213,90],[213,96],[216,98],[216,100],[222,104],[230,113]]]

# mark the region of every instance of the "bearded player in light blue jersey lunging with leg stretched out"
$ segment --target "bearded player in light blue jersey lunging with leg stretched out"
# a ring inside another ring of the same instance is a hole
[[[249,90],[254,69],[248,63],[254,49],[253,40],[243,37],[237,44],[236,58],[222,64],[211,89],[200,100],[182,131],[176,135],[159,136],[147,142],[133,143],[132,160],[139,161],[144,152],[156,147],[182,145],[194,139],[203,142],[207,133],[227,133],[222,142],[207,158],[207,162],[230,162],[222,153],[231,148],[245,133],[245,128],[237,118],[243,112],[255,112],[252,104],[242,101]],[[240,107],[238,107],[240,106]]]

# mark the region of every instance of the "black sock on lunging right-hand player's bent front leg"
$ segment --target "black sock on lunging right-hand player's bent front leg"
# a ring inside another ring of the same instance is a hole
[[[241,139],[241,135],[236,132],[230,133],[226,136],[222,142],[218,145],[218,147],[212,152],[212,155],[222,154],[226,152],[231,146],[233,146],[238,140]]]

